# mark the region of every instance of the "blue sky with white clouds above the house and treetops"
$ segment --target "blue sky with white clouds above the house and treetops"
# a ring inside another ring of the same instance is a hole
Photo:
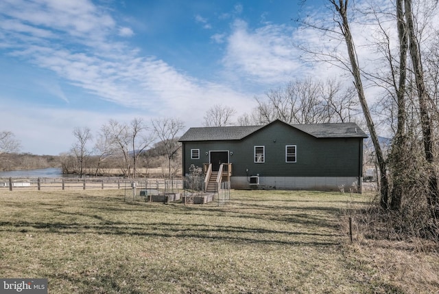
[[[73,128],[110,119],[186,130],[215,104],[250,112],[268,89],[338,72],[300,60],[295,43],[320,39],[292,19],[326,1],[300,2],[2,0],[0,130],[22,152],[58,155]]]

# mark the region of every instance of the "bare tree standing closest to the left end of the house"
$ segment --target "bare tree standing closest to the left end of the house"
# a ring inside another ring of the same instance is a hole
[[[185,127],[185,124],[177,119],[165,118],[152,120],[152,126],[154,127],[154,133],[160,139],[159,144],[161,144],[166,151],[169,179],[171,179],[171,159],[181,147],[181,144],[178,142],[177,134]]]

